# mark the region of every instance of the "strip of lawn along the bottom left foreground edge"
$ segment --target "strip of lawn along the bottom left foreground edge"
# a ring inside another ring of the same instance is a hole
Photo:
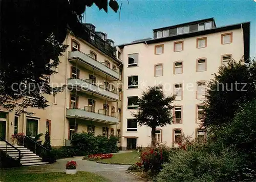
[[[51,173],[20,173],[20,172],[1,172],[1,181],[19,181],[19,182],[63,182],[63,181],[84,181],[84,182],[106,182],[109,181],[102,176],[90,172],[78,171],[76,174],[66,174],[65,172],[51,172]]]

